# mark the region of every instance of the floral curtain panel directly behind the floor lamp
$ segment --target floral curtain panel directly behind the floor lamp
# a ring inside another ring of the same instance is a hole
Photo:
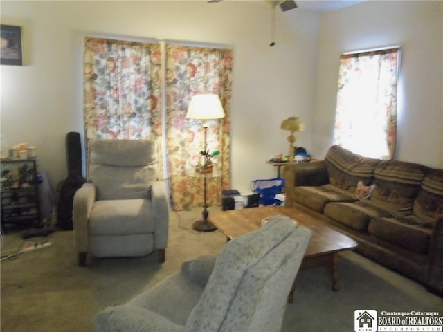
[[[204,149],[201,121],[186,118],[192,95],[219,95],[225,118],[208,122],[208,150],[218,149],[217,176],[208,179],[208,205],[221,203],[221,190],[230,188],[230,95],[232,50],[166,47],[166,131],[168,173],[174,210],[189,210],[204,204],[204,179],[192,169]]]

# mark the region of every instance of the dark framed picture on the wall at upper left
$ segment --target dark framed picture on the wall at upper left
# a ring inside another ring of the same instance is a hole
[[[0,26],[0,64],[23,66],[21,26]]]

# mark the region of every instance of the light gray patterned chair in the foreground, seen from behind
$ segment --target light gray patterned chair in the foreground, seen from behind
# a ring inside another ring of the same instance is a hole
[[[311,232],[287,216],[226,243],[98,314],[96,331],[276,332]]]

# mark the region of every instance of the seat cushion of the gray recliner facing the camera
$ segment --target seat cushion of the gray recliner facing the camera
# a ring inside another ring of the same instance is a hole
[[[96,201],[89,215],[91,235],[129,235],[154,232],[152,204],[147,199]]]

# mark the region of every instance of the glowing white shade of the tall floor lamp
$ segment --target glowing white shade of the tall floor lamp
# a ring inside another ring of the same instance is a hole
[[[210,120],[224,118],[218,95],[194,95],[191,98],[186,118]]]

